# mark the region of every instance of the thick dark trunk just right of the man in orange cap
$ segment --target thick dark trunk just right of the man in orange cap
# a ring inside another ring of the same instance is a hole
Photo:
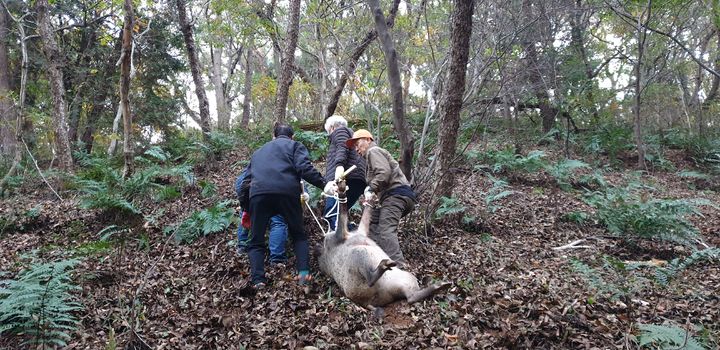
[[[438,143],[439,176],[436,196],[452,196],[455,176],[452,171],[460,127],[460,110],[465,94],[465,75],[472,34],[473,0],[456,0],[450,34],[450,68],[445,84],[445,93],[440,104],[440,127]]]

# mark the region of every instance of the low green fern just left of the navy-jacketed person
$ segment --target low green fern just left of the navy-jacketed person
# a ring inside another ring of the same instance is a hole
[[[237,221],[232,204],[233,201],[223,201],[195,211],[179,225],[167,227],[165,233],[174,232],[178,243],[191,243],[200,236],[221,232]]]

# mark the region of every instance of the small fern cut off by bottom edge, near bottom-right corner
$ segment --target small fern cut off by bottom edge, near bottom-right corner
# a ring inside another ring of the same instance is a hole
[[[638,323],[638,345],[652,349],[703,350],[705,347],[690,333],[674,325]]]

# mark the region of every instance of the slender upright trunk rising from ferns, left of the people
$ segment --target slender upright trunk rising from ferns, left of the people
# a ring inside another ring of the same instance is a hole
[[[133,163],[132,114],[130,112],[130,64],[132,60],[133,12],[132,0],[125,0],[125,25],[123,26],[123,44],[120,60],[120,109],[123,115],[123,157],[125,167],[123,177],[127,178],[135,170]]]

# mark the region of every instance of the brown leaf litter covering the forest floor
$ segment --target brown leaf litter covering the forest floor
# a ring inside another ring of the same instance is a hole
[[[234,198],[234,179],[246,158],[247,152],[233,151],[196,174],[216,184],[219,197]],[[670,159],[678,169],[687,165],[681,155]],[[605,177],[619,184],[629,173]],[[720,203],[717,189],[693,188],[674,172],[642,178],[663,198]],[[592,208],[580,192],[560,190],[544,173],[510,181],[513,193],[492,213],[484,200],[488,178],[460,169],[456,183],[455,194],[466,207],[461,216],[473,220],[451,216],[426,234],[424,198],[399,234],[409,271],[453,286],[432,300],[388,307],[382,322],[343,297],[314,258],[316,279],[308,294],[292,280],[292,260],[287,267],[270,267],[272,285],[253,293],[246,288],[247,259],[236,254],[236,227],[191,244],[168,239],[164,227],[218,200],[195,189],[159,203],[152,214],[164,212],[157,220],[127,223],[132,228],[117,233],[110,249],[83,259],[77,272],[84,310],[68,348],[105,349],[111,342],[125,349],[633,348],[638,324],[668,322],[691,330],[708,347],[720,344],[719,264],[693,265],[662,286],[651,280],[652,265],[688,256],[687,247],[652,240],[627,244],[592,222],[563,220]],[[77,209],[70,192],[61,195],[67,196],[62,202],[38,181],[0,202],[0,214],[41,208],[32,226],[0,237],[0,271],[17,272],[22,255],[33,250],[52,257],[93,247],[98,232],[113,223]],[[718,247],[720,209],[701,210],[703,216],[691,221],[708,245]],[[322,233],[305,211],[311,243],[318,243]],[[588,248],[553,249],[582,238]],[[600,275],[604,286],[593,286],[572,268],[572,258],[596,267],[603,256],[647,267],[614,277],[606,271]],[[17,343],[0,338],[0,348]]]

